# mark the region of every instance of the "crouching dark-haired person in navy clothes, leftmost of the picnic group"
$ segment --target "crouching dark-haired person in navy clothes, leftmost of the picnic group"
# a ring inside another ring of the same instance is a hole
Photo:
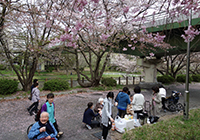
[[[93,108],[93,103],[89,102],[87,104],[87,108],[85,109],[85,112],[83,114],[83,123],[85,123],[86,128],[92,129],[95,125],[100,126],[100,123],[96,120],[92,120],[92,118],[96,117],[99,115],[99,113],[95,114],[92,110]]]

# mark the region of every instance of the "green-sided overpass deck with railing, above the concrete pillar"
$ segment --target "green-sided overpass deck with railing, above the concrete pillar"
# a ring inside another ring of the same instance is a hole
[[[148,32],[156,33],[159,32],[162,35],[166,35],[164,42],[169,43],[171,46],[176,46],[173,49],[163,50],[156,49],[154,52],[156,58],[161,58],[165,55],[174,55],[186,53],[187,51],[187,43],[184,42],[184,39],[181,37],[184,33],[184,30],[188,28],[188,17],[185,15],[180,15],[178,18],[172,18],[170,15],[166,14],[166,12],[158,13],[156,15],[149,15],[146,17],[147,20],[143,24],[147,27]],[[182,22],[179,22],[182,21]],[[195,28],[200,28],[200,14],[192,15],[192,26]],[[120,50],[116,50],[117,53],[125,53],[135,56],[140,56],[144,58],[147,54],[141,53],[137,48],[135,50],[131,50],[128,46],[128,42],[126,40],[121,41]],[[126,47],[127,51],[122,51],[122,48]],[[151,45],[148,45],[151,48]],[[191,52],[200,51],[200,35],[196,36],[195,39],[191,42]],[[152,52],[152,51],[150,51]]]

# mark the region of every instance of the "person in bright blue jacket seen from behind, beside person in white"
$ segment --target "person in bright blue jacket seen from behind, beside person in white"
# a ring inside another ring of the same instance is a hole
[[[127,87],[124,87],[122,92],[120,92],[115,99],[117,101],[116,105],[118,108],[118,113],[121,118],[124,118],[127,105],[131,103],[130,98],[127,94],[128,91],[129,89]]]

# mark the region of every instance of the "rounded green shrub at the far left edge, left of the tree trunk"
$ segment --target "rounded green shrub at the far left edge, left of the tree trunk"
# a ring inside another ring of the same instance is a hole
[[[8,95],[17,91],[18,82],[9,79],[0,79],[0,94]]]

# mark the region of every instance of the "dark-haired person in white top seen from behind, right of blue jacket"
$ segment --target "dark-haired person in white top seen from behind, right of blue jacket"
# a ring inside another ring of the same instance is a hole
[[[133,101],[131,104],[133,105],[133,110],[134,113],[137,114],[137,119],[139,119],[139,113],[143,112],[144,109],[144,96],[141,94],[141,88],[139,86],[136,86],[134,88],[134,96],[133,96]]]

